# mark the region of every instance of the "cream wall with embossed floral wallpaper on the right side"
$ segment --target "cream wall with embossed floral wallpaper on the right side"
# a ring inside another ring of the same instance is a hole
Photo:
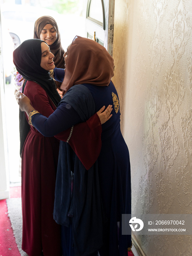
[[[117,0],[113,82],[132,212],[192,214],[192,1]],[[137,236],[146,256],[191,256],[192,236]]]

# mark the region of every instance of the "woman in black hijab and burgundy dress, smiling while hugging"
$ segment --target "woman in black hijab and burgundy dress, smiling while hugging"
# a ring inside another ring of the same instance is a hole
[[[49,46],[39,39],[24,41],[13,53],[16,69],[26,79],[23,93],[29,97],[31,105],[46,117],[56,110],[61,100],[54,80],[49,76],[49,70],[54,68],[53,58],[54,55],[50,52]],[[108,120],[110,108],[107,108],[102,115]],[[22,249],[29,256],[39,256],[42,251],[44,256],[61,256],[60,225],[53,220],[59,140],[55,137],[44,137],[33,125],[29,125],[27,120],[28,116],[24,112],[20,112]],[[72,148],[74,150],[76,147],[78,148],[81,144],[80,140],[83,141],[83,132],[87,136],[90,126],[93,127],[91,132],[94,131],[97,150],[94,152],[95,159],[89,160],[94,162],[101,148],[101,123],[97,114],[90,120],[91,125],[88,125],[87,129],[83,124],[74,127],[72,138],[74,136],[76,141],[79,140],[79,144],[76,142]],[[84,127],[81,129],[82,136],[78,136],[79,127],[82,125]],[[70,130],[61,133],[58,138],[67,141]],[[72,143],[72,138],[70,143]],[[86,159],[87,156],[82,154],[79,158],[81,159],[81,157]],[[93,165],[89,161],[86,164]]]

